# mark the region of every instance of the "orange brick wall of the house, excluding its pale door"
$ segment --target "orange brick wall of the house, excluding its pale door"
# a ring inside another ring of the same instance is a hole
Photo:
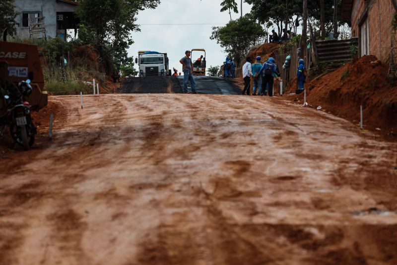
[[[351,15],[353,37],[359,37],[359,22],[367,12],[370,54],[388,62],[392,47],[397,46],[397,34],[392,30],[394,7],[390,0],[354,0]]]

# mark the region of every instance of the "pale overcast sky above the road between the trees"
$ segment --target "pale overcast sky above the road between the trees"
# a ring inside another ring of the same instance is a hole
[[[238,2],[240,3],[240,1]],[[175,67],[182,72],[179,60],[185,55],[185,51],[204,48],[207,66],[220,66],[225,61],[226,54],[215,40],[209,39],[212,26],[222,26],[230,21],[228,11],[220,12],[220,3],[221,0],[162,0],[156,9],[141,11],[136,22],[140,24],[141,32],[132,33],[135,43],[128,50],[129,56],[135,58],[140,50],[166,52],[169,57],[170,69]],[[251,6],[243,3],[243,13],[250,11]],[[232,12],[232,19],[238,17],[240,17],[240,13]],[[194,60],[198,57],[198,53],[193,54]]]

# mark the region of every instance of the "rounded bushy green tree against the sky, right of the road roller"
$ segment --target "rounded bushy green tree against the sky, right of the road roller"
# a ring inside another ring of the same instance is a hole
[[[216,40],[227,54],[240,63],[250,47],[262,43],[265,32],[262,26],[250,15],[232,20],[223,27],[212,27],[211,40]]]

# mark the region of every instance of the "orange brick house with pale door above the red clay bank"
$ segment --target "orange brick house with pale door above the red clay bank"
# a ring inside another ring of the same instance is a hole
[[[342,0],[341,17],[351,19],[351,35],[358,37],[358,54],[375,55],[386,63],[397,34],[392,28],[396,9],[391,0]],[[396,51],[397,52],[397,51]]]

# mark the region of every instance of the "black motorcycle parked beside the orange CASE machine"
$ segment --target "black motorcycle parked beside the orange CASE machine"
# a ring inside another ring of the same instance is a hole
[[[29,102],[22,100],[22,96],[30,95],[32,87],[30,81],[27,80],[20,82],[18,88],[22,94],[19,98],[12,99],[9,95],[4,96],[8,109],[5,117],[1,118],[0,127],[8,125],[14,142],[22,146],[24,150],[29,150],[34,143],[37,130],[30,115],[31,106]]]

